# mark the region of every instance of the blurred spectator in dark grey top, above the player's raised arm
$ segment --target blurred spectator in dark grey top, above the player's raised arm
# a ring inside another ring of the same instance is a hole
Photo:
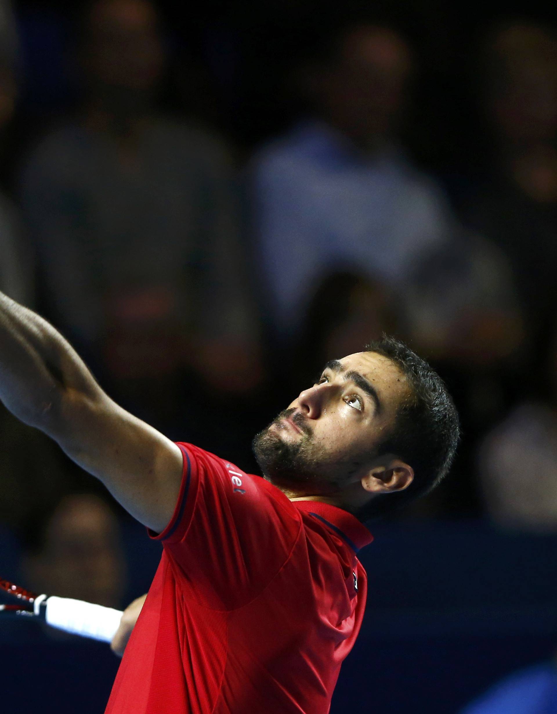
[[[149,0],[94,2],[81,113],[36,147],[22,188],[45,311],[161,428],[184,370],[237,393],[259,380],[229,157],[156,111],[165,60]]]

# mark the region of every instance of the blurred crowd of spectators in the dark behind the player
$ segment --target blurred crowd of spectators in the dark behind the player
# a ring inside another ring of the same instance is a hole
[[[0,2],[1,290],[130,411],[246,471],[325,361],[393,333],[463,422],[446,484],[401,517],[557,530],[556,28],[481,28],[453,74],[475,149],[455,129],[437,166],[416,126],[458,107],[416,112],[431,58],[396,16],[289,42],[278,22],[281,52],[251,32],[214,18],[192,39],[150,0]],[[94,479],[6,411],[0,433],[0,522],[29,578],[68,548],[102,560]]]

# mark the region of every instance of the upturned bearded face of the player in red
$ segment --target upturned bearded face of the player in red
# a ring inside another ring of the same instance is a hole
[[[254,439],[265,478],[291,496],[338,493],[360,481],[381,456],[407,394],[406,377],[377,353],[329,362]]]

